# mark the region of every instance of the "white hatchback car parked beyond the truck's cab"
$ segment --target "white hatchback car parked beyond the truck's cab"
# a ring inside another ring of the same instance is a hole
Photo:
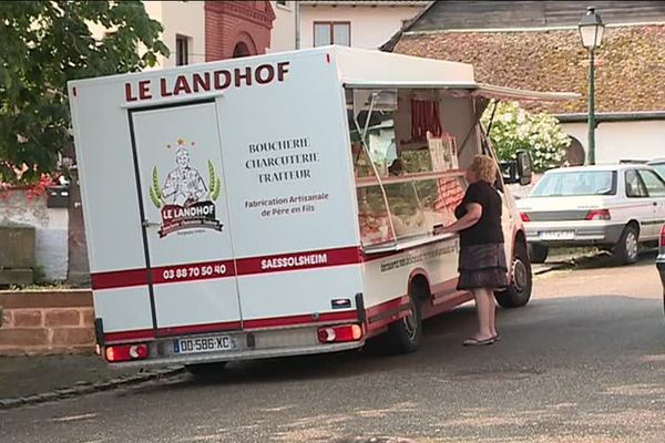
[[[665,179],[647,165],[559,168],[516,204],[532,261],[543,262],[550,247],[597,246],[631,264],[640,244],[658,241]]]

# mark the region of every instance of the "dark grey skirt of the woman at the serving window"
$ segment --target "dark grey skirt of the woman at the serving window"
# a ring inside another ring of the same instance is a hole
[[[464,246],[458,268],[459,290],[502,289],[508,286],[508,266],[503,244]]]

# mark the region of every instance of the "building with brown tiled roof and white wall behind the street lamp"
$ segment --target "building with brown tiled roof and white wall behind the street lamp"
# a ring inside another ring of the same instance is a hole
[[[589,54],[577,23],[595,7],[605,23],[596,51],[596,163],[665,153],[665,1],[436,1],[383,47],[472,63],[481,82],[570,91],[548,111],[587,147]]]

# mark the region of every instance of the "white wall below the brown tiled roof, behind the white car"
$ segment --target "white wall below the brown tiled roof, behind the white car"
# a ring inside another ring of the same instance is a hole
[[[577,138],[587,152],[586,123],[564,123],[563,130]],[[620,159],[665,157],[665,120],[643,122],[603,122],[595,133],[597,164]]]

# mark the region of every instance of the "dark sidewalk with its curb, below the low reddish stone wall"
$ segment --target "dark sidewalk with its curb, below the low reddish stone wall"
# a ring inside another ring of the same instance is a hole
[[[182,368],[110,369],[95,354],[0,357],[0,410],[175,374]]]

